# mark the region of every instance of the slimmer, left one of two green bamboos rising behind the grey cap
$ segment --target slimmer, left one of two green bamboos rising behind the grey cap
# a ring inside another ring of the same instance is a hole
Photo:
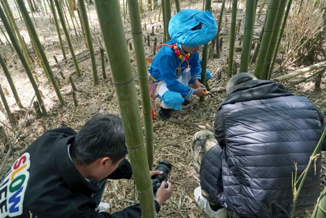
[[[232,77],[233,67],[233,54],[234,54],[234,42],[235,42],[235,27],[237,22],[237,0],[232,0],[232,12],[231,12],[231,30],[230,30],[230,49],[229,49],[229,66],[228,66],[228,77]]]

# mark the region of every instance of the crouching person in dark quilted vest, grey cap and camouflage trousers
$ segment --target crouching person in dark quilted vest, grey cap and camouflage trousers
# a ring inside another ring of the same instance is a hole
[[[226,209],[241,217],[290,217],[295,163],[299,177],[325,129],[322,113],[309,99],[250,73],[233,76],[226,91],[215,132],[193,137],[200,177],[196,202],[210,218],[226,218]],[[296,214],[312,208],[319,196],[320,159],[316,172],[314,164],[308,170]]]

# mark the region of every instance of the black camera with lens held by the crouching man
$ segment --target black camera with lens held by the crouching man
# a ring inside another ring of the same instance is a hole
[[[152,179],[152,186],[153,186],[153,192],[154,196],[156,196],[156,192],[158,188],[161,186],[162,181],[167,181],[169,173],[171,172],[172,165],[166,161],[161,160],[158,164],[155,170],[162,171],[163,173],[160,175],[153,176]],[[165,183],[165,188],[168,188],[168,183]]]

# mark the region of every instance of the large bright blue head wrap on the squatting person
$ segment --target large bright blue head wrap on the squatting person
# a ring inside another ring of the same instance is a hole
[[[201,29],[191,30],[202,24]],[[212,41],[217,33],[215,18],[207,11],[185,9],[175,14],[169,23],[169,34],[175,42],[195,47]]]

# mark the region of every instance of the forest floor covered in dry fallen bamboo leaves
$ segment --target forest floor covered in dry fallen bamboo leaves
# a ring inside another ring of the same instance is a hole
[[[227,1],[227,8],[224,15],[230,15],[229,6],[230,2]],[[216,12],[216,9],[221,7],[221,3],[212,3],[213,15],[217,18],[219,12]],[[95,52],[99,51],[99,46],[103,45],[102,40],[100,39],[100,29],[97,21],[97,15],[94,5],[88,6],[89,16],[90,16],[90,26],[93,34],[93,44]],[[192,1],[182,1],[181,8],[196,8],[202,9],[202,4],[196,4]],[[172,14],[175,8],[172,7]],[[262,11],[264,13],[265,10]],[[68,15],[68,11],[67,16]],[[158,21],[158,13],[159,10],[156,9],[152,12],[147,12],[144,14],[145,18],[143,19],[143,23],[146,23],[146,30],[143,31],[143,35],[147,37],[150,36],[150,46],[144,44],[146,57],[153,58],[153,44],[154,38],[157,38],[158,45],[163,42],[163,23],[162,21]],[[244,10],[241,10],[241,5],[239,6],[238,14],[244,14]],[[50,61],[51,65],[55,65],[56,62],[53,58],[53,55],[56,56],[58,61],[60,62],[63,59],[63,55],[61,53],[59,45],[53,46],[53,42],[56,43],[58,41],[58,36],[55,30],[54,24],[50,23],[49,15],[42,16],[42,14],[38,15],[34,13],[36,22],[37,22],[37,33],[38,36],[43,43],[45,48],[47,57]],[[77,20],[78,15],[76,12]],[[128,22],[129,17],[128,13],[125,15],[125,33],[126,39],[132,43],[131,29],[130,23]],[[257,16],[258,17],[258,16]],[[257,18],[256,17],[256,18]],[[244,17],[243,17],[244,18]],[[124,20],[124,17],[122,16]],[[227,17],[230,21],[230,16]],[[70,19],[69,19],[70,20]],[[254,35],[259,36],[259,31],[261,29],[261,24],[264,20],[264,15],[259,16],[256,19]],[[78,20],[79,21],[79,20]],[[113,22],[113,21],[112,21]],[[241,21],[241,29],[240,33],[243,32],[244,20]],[[22,21],[18,21],[18,26],[20,28],[21,34],[24,37],[29,51],[32,52],[31,43],[29,41],[28,34],[26,32],[25,24]],[[79,23],[79,22],[78,22]],[[230,23],[230,22],[228,22]],[[69,22],[71,26],[71,34],[73,38],[76,38],[75,32],[73,31],[71,20]],[[76,25],[76,23],[75,23]],[[223,19],[222,32],[221,35],[224,38],[223,50],[221,53],[221,58],[210,58],[208,60],[208,69],[212,72],[213,78],[210,81],[210,85],[212,89],[218,87],[225,87],[227,82],[227,73],[225,71],[225,66],[227,66],[227,57],[229,54],[229,31],[228,28],[230,24],[225,24],[225,19]],[[152,26],[154,26],[154,35],[151,35]],[[65,37],[62,34],[63,39],[65,41]],[[78,35],[79,36],[79,35]],[[0,36],[2,41],[5,42],[5,38],[3,35]],[[74,51],[75,54],[79,54],[82,51],[86,50],[85,42],[82,37],[78,39],[74,39]],[[236,46],[239,45],[239,37],[236,40]],[[67,57],[70,57],[70,52],[67,47],[67,43],[65,44]],[[133,45],[132,45],[133,47]],[[22,104],[24,107],[28,107],[30,104],[32,97],[34,96],[34,90],[31,87],[31,84],[22,68],[22,65],[18,59],[17,55],[14,55],[10,50],[8,45],[2,46],[4,49],[7,58],[9,71],[13,77],[15,82],[17,91],[22,100]],[[130,58],[134,58],[134,51],[129,50]],[[81,60],[84,55],[87,53],[82,53],[77,57]],[[240,59],[241,51],[236,50],[234,54],[234,59]],[[201,56],[201,55],[200,55]],[[37,58],[35,58],[36,61]],[[93,76],[92,76],[92,67],[90,59],[86,59],[79,63],[80,69],[82,70],[82,79],[78,78],[75,74],[75,69],[73,66],[73,62],[69,60],[66,64],[61,65],[60,67],[53,68],[54,73],[58,73],[62,71],[65,75],[66,79],[60,78],[61,87],[60,90],[64,93],[64,97],[67,101],[66,104],[60,104],[57,99],[52,84],[47,81],[42,71],[37,66],[37,63],[34,63],[34,67],[36,69],[36,73],[39,78],[39,89],[41,90],[44,98],[43,101],[45,103],[46,109],[49,113],[49,117],[43,117],[41,120],[44,121],[47,129],[53,129],[61,126],[68,126],[72,129],[79,131],[85,122],[90,119],[96,113],[109,113],[109,114],[119,114],[118,103],[115,96],[114,86],[111,80],[110,74],[110,66],[109,62],[105,63],[106,73],[108,76],[107,80],[103,80],[101,75],[101,61],[100,55],[96,53],[96,62],[97,62],[97,71],[99,76],[99,84],[94,86],[93,84]],[[129,63],[121,63],[121,64],[129,64]],[[138,86],[137,81],[137,68],[136,62],[131,63],[134,75],[136,86]],[[149,65],[148,65],[149,67]],[[254,65],[250,66],[249,70],[252,70]],[[278,65],[275,66],[275,69]],[[303,68],[303,66],[291,65],[281,74],[285,74],[286,72],[291,72],[296,69]],[[238,68],[239,69],[239,68]],[[219,74],[218,71],[221,70]],[[68,80],[69,74],[73,74],[73,78],[75,84],[77,86],[77,99],[79,105],[77,107],[74,106],[73,99],[70,93],[71,86]],[[289,81],[284,82],[285,87],[289,87],[291,84],[296,81],[311,75],[311,73],[306,73],[303,76],[299,76],[297,78],[291,79]],[[221,81],[219,81],[219,76]],[[276,77],[273,75],[272,77]],[[23,117],[25,116],[26,110],[19,110],[17,107],[15,100],[11,94],[10,87],[7,83],[4,73],[0,72],[0,82],[3,87],[6,87],[10,94],[7,96],[7,100],[12,111],[15,111],[20,123],[22,122]],[[319,109],[326,113],[326,78],[324,76],[321,83],[321,90],[314,91],[314,82],[313,80],[307,80],[304,83],[300,83],[293,88],[290,88],[289,91],[293,92],[295,95],[302,95],[308,97],[311,101],[315,103],[319,107]],[[140,99],[139,88],[138,96]],[[217,97],[207,97],[204,103],[199,104],[198,98],[193,98],[191,103],[188,104],[182,111],[177,111],[172,113],[172,118],[177,118],[180,120],[197,123],[206,126],[213,126],[213,120],[215,117],[215,112],[220,104],[220,102],[226,97],[225,92],[219,92],[216,94]],[[156,106],[158,108],[158,103],[156,102]],[[141,105],[140,105],[141,109]],[[10,124],[7,119],[7,115],[4,110],[0,111],[0,120],[6,123],[7,126],[10,127]],[[193,217],[205,217],[199,207],[196,205],[194,201],[193,191],[199,186],[199,179],[195,173],[194,167],[191,163],[191,138],[193,134],[200,129],[196,129],[189,126],[178,125],[175,123],[170,123],[162,120],[156,119],[154,121],[154,164],[157,164],[159,160],[166,159],[170,163],[172,163],[172,171],[170,173],[169,181],[173,184],[173,195],[171,199],[165,203],[158,213],[158,217],[174,217],[174,218],[193,218]],[[5,128],[7,134],[10,137],[10,140],[13,139],[14,133],[10,131],[7,127]],[[16,128],[17,129],[17,128]],[[15,130],[16,130],[15,129]],[[43,133],[43,128],[40,124],[40,120],[35,118],[34,109],[32,109],[32,113],[27,117],[27,122],[24,124],[22,132],[20,134],[21,138],[15,143],[14,147],[20,147],[21,149],[16,150],[14,157],[10,156],[6,165],[5,171],[13,164],[14,160],[17,159],[20,152],[23,151],[30,143],[32,143],[37,137],[39,137]],[[2,144],[1,144],[2,146]],[[3,148],[3,147],[1,147]],[[3,150],[3,149],[2,149]],[[0,152],[1,162],[4,159],[5,154]],[[325,155],[322,156],[322,176],[321,176],[321,189],[324,187],[326,183],[326,159]],[[4,171],[4,172],[5,172]],[[293,167],[294,171],[294,167]],[[1,172],[1,174],[4,174]],[[124,209],[126,206],[132,205],[138,201],[137,196],[134,194],[134,183],[129,180],[110,180],[107,183],[107,187],[105,189],[102,201],[108,202],[111,204],[111,212],[118,211]],[[308,214],[311,214],[311,210],[307,211],[300,217],[310,217]],[[237,217],[234,213],[229,212],[230,218]]]

